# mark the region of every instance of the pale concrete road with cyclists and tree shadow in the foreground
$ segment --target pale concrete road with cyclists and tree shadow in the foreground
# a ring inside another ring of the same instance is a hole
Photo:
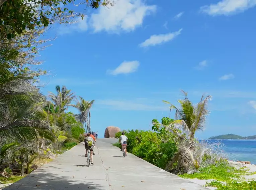
[[[207,190],[132,154],[121,157],[112,142],[97,140],[93,166],[79,144],[5,190]]]

